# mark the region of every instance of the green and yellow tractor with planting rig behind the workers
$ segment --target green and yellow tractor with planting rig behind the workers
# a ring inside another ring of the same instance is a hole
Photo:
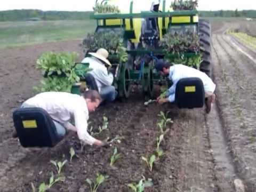
[[[115,71],[114,84],[122,98],[129,97],[132,84],[141,85],[143,93],[151,98],[154,84],[166,82],[154,69],[157,59],[190,65],[211,75],[209,22],[198,19],[195,7],[193,10],[176,11],[172,8],[175,3],[171,7],[171,1],[149,2],[143,2],[141,6],[141,1],[97,1],[91,15],[91,19],[97,21],[95,33],[122,33],[127,61],[119,62],[111,53],[109,56]],[[168,41],[175,35],[197,39],[192,39],[195,45],[185,46],[186,49],[181,52],[173,51],[168,49],[172,48]],[[193,63],[195,60],[196,63]]]

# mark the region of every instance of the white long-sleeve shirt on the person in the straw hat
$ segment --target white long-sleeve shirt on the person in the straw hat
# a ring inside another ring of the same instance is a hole
[[[108,73],[107,68],[99,59],[86,57],[82,60],[82,63],[90,63],[89,68],[92,70],[89,73],[95,78],[99,92],[102,87],[112,85],[114,81],[113,74]]]

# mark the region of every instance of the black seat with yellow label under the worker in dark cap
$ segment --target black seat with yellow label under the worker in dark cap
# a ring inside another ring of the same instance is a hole
[[[175,103],[179,108],[201,108],[204,106],[204,85],[200,78],[189,77],[178,81]]]

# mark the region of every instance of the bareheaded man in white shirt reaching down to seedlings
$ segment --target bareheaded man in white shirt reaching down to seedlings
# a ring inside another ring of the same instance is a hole
[[[46,110],[61,137],[66,134],[66,129],[72,130],[89,145],[105,146],[107,142],[95,139],[87,132],[89,111],[94,111],[101,100],[95,90],[84,91],[82,96],[66,92],[43,92],[23,102],[21,108],[39,107]],[[74,118],[75,126],[69,122],[71,118]]]

